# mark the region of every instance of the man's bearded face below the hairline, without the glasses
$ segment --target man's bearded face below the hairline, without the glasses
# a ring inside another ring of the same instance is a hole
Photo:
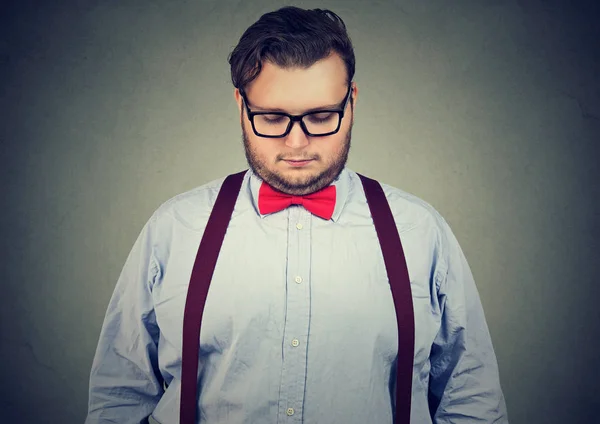
[[[284,111],[299,115],[314,109],[337,109],[348,92],[346,67],[333,54],[309,68],[280,68],[263,64],[258,77],[245,89],[252,112]],[[292,195],[305,195],[327,187],[342,172],[350,151],[353,104],[358,90],[352,87],[337,133],[312,137],[295,122],[285,137],[265,138],[252,130],[239,91],[235,90],[241,116],[246,159],[263,181]]]

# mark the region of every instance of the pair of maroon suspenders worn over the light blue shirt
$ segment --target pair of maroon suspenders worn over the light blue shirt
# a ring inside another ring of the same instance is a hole
[[[183,315],[180,424],[196,424],[200,326],[223,238],[246,171],[225,178],[196,254]],[[375,180],[359,174],[390,281],[398,323],[395,424],[409,424],[414,358],[414,313],[410,279],[394,217]]]

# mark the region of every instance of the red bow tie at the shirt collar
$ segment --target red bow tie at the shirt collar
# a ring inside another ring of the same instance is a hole
[[[335,193],[335,186],[329,186],[306,196],[293,196],[277,191],[263,182],[258,192],[258,210],[266,215],[279,212],[290,205],[302,205],[313,215],[329,220],[335,208]]]

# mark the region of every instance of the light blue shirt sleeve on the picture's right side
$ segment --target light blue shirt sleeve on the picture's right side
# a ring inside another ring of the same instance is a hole
[[[508,423],[498,364],[467,260],[444,222],[447,267],[442,313],[431,351],[429,404],[436,424]]]

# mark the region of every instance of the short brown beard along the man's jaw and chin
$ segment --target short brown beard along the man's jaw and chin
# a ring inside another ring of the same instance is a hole
[[[252,171],[256,175],[258,175],[263,181],[265,181],[267,184],[269,184],[276,190],[294,196],[304,196],[306,194],[314,193],[330,185],[340,176],[340,174],[344,170],[346,162],[348,161],[348,154],[350,153],[352,125],[353,122],[350,123],[350,128],[348,129],[346,140],[344,141],[344,145],[342,146],[342,151],[335,158],[334,162],[323,172],[313,177],[309,177],[306,181],[294,184],[291,181],[286,180],[278,172],[270,171],[265,165],[265,163],[258,158],[258,155],[252,149],[252,146],[250,146],[248,134],[246,133],[246,129],[242,125],[242,141],[244,142],[246,161],[248,162],[250,169],[252,169]],[[283,158],[279,156],[277,157],[278,161],[281,159]],[[317,157],[316,159],[319,158]]]

